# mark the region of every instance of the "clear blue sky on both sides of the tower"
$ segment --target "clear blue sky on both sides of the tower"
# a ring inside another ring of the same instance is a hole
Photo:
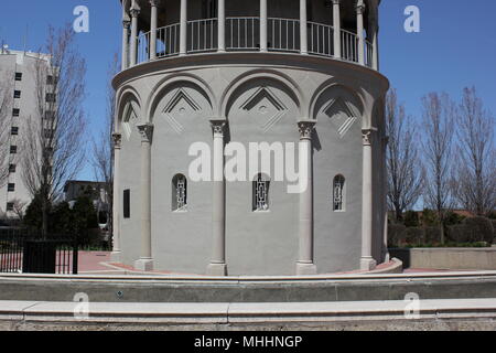
[[[37,51],[47,25],[73,22],[73,10],[80,4],[89,9],[90,29],[76,40],[87,61],[85,109],[90,132],[96,135],[105,118],[108,66],[121,45],[118,0],[4,0],[0,41],[22,50],[28,33],[26,50]],[[403,30],[403,11],[412,4],[421,11],[420,33]],[[457,99],[462,88],[472,85],[496,113],[495,13],[494,0],[382,0],[381,72],[398,88],[409,114],[420,117],[420,99],[429,92],[444,90]],[[79,178],[93,179],[91,169],[86,168]]]

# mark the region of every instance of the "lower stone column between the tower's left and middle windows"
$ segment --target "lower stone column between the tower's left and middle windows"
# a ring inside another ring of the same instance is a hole
[[[224,129],[226,119],[211,119],[214,130],[213,253],[207,275],[227,276],[226,264],[226,183],[224,178]]]

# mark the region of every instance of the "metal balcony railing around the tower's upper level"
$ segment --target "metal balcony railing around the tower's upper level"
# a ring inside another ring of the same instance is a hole
[[[157,58],[180,55],[180,23],[157,30]],[[269,52],[299,53],[301,51],[300,21],[269,18],[267,22],[267,47]],[[260,50],[260,18],[226,18],[225,50],[227,52],[256,52]],[[150,61],[150,32],[138,38],[137,64]],[[328,24],[308,22],[308,53],[335,57],[334,28]],[[187,22],[187,54],[216,52],[218,50],[218,20],[204,19]],[[341,60],[359,63],[359,40],[349,31],[341,30]],[[364,62],[374,66],[374,45],[364,41]]]

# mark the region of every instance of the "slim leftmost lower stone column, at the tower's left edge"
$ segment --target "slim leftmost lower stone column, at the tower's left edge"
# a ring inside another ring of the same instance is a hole
[[[120,263],[120,149],[122,146],[122,135],[114,133],[114,196],[112,196],[112,254],[111,259]]]

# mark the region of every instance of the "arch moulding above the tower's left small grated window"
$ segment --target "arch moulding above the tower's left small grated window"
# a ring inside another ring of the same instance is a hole
[[[174,86],[177,86],[181,83],[186,83],[190,86],[194,86],[196,90],[198,90],[200,94],[202,94],[206,100],[208,101],[212,111],[216,111],[216,98],[215,95],[211,88],[211,86],[204,82],[202,78],[197,77],[196,75],[191,74],[177,74],[177,75],[170,75],[163,79],[161,79],[153,88],[152,94],[150,95],[148,101],[147,101],[147,117],[151,122],[151,119],[155,115],[157,107],[159,106],[162,98],[170,93],[171,88]],[[184,92],[182,93],[183,97]]]

